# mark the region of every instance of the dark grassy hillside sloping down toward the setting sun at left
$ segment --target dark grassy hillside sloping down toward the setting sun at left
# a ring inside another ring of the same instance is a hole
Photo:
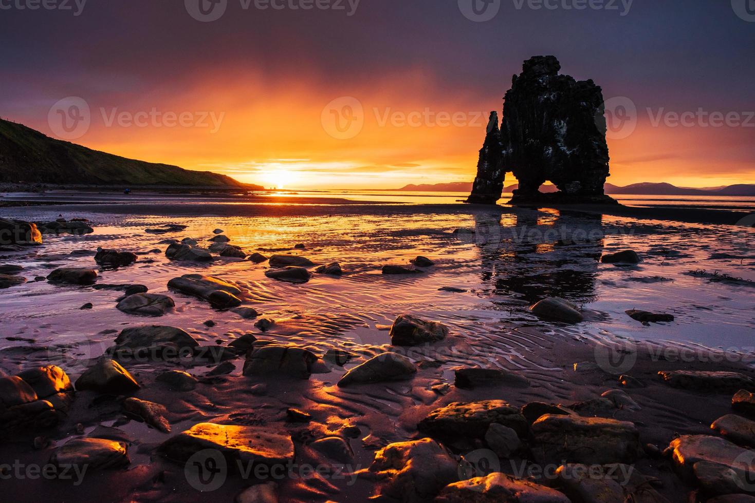
[[[0,182],[93,186],[202,186],[263,190],[210,171],[135,161],[55,140],[0,119]]]

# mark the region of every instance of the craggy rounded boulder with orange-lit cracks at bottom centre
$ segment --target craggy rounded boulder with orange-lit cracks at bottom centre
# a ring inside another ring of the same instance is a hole
[[[391,443],[375,452],[368,469],[376,478],[374,497],[430,501],[458,480],[458,462],[430,438]]]

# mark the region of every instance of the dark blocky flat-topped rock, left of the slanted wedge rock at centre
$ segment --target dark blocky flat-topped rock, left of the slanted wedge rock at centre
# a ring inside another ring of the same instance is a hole
[[[290,376],[310,379],[317,357],[298,346],[266,345],[252,350],[246,357],[245,376]]]

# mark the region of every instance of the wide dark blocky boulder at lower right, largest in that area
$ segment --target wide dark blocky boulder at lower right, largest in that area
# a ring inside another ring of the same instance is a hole
[[[538,462],[631,463],[640,453],[639,432],[631,422],[548,414],[531,431]]]

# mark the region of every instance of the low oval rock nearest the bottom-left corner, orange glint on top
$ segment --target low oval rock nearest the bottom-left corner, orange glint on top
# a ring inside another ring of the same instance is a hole
[[[55,450],[51,465],[86,466],[89,470],[125,468],[128,459],[126,444],[103,438],[75,438]]]

